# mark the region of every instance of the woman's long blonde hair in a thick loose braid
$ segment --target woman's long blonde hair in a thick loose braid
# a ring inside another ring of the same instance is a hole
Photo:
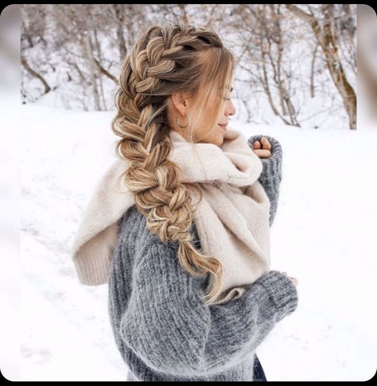
[[[182,183],[182,171],[168,160],[169,96],[188,92],[194,99],[187,137],[191,144],[200,142],[196,129],[207,133],[219,122],[234,68],[232,51],[215,32],[183,22],[153,25],[122,63],[115,94],[117,113],[111,124],[121,137],[116,155],[129,161],[122,178],[134,192],[148,229],[163,242],[178,241],[178,260],[191,275],[212,275],[207,305],[220,293],[223,266],[192,244],[189,230],[203,196],[199,184]],[[195,204],[194,192],[200,197]]]

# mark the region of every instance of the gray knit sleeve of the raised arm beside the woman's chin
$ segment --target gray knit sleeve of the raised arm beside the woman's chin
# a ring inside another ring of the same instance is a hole
[[[253,143],[255,141],[261,141],[262,137],[266,137],[271,144],[271,157],[261,158],[263,169],[258,181],[265,189],[271,203],[269,218],[269,225],[271,226],[276,215],[277,203],[279,201],[280,183],[282,181],[283,150],[279,141],[263,134],[250,137],[247,140],[247,143],[253,149]]]

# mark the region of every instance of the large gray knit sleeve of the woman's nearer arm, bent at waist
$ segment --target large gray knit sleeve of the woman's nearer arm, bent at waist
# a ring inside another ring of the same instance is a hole
[[[181,267],[176,244],[148,238],[135,252],[120,336],[155,371],[188,377],[226,371],[297,306],[294,284],[279,271],[246,285],[236,300],[207,306],[209,274],[192,276]]]

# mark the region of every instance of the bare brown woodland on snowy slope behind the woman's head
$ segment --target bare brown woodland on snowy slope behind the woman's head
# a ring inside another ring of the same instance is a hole
[[[181,20],[216,31],[232,49],[237,65],[235,102],[247,121],[318,127],[326,122],[326,113],[334,112],[347,120],[355,108],[354,5],[312,5],[306,11],[289,7],[24,4],[23,100],[34,102],[56,89],[59,98],[53,100],[62,101],[64,108],[113,108],[122,61],[137,37],[152,24]],[[306,16],[297,17],[297,9]],[[322,26],[320,40],[307,17]]]

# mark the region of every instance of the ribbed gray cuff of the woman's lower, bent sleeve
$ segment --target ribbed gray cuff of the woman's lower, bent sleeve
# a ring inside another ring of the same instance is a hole
[[[288,276],[280,271],[269,271],[254,283],[260,283],[272,298],[279,320],[291,314],[297,307],[299,297],[297,289]]]

